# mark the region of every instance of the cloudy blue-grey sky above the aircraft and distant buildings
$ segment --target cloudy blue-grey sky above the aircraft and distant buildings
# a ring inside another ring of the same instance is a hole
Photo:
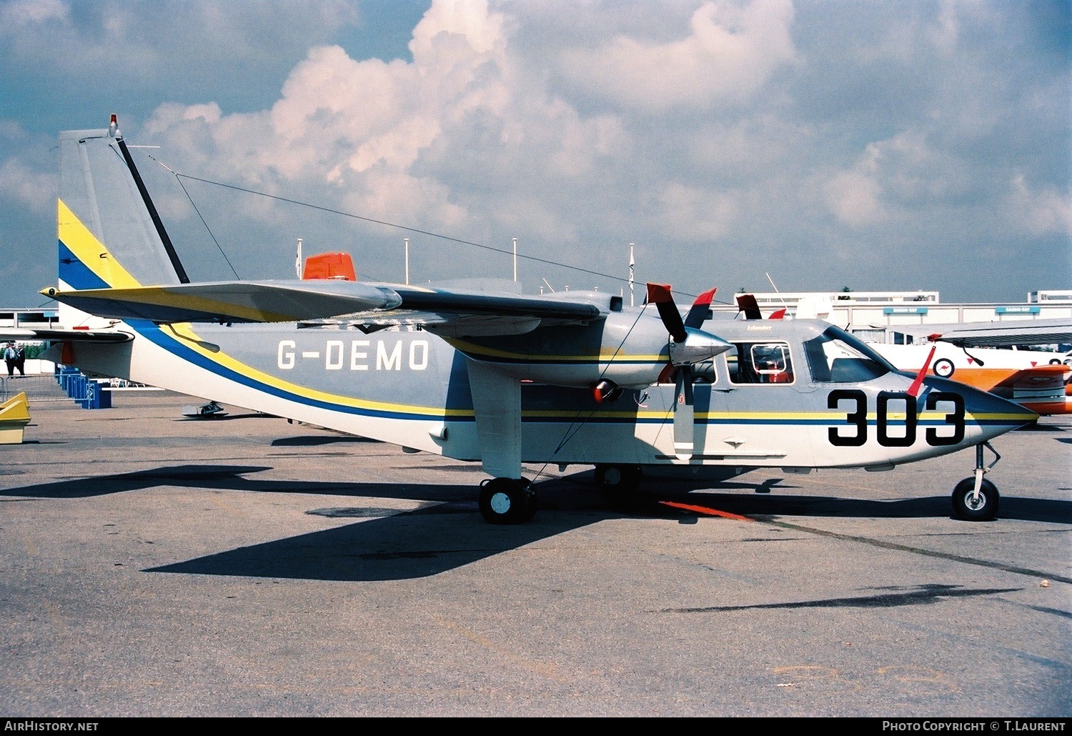
[[[408,238],[412,283],[512,280],[516,238],[528,294],[628,297],[630,243],[638,284],[719,301],[1070,289],[1070,21],[1068,0],[0,0],[0,305],[49,304],[57,135],[111,112],[159,147],[135,159],[195,281],[294,277],[298,238],[360,279],[403,282]]]

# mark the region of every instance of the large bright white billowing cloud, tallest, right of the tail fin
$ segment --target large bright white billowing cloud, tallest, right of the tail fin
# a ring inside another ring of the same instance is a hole
[[[314,47],[268,110],[168,104],[145,130],[219,176],[271,192],[301,183],[366,216],[466,227],[501,211],[562,236],[568,224],[524,190],[583,178],[623,134],[613,118],[583,119],[526,86],[505,27],[485,2],[436,2],[414,29],[412,62]],[[487,183],[466,193],[459,179]]]

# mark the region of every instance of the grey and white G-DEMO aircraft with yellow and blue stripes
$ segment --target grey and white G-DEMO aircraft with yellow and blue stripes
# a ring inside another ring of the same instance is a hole
[[[887,470],[972,447],[954,512],[992,519],[983,447],[1037,419],[898,372],[829,322],[715,319],[713,290],[683,317],[657,284],[629,307],[598,291],[190,283],[115,117],[60,134],[60,179],[59,286],[43,294],[87,313],[42,335],[60,362],[479,461],[496,524],[536,511],[522,463],[594,465],[628,493],[655,466]]]

